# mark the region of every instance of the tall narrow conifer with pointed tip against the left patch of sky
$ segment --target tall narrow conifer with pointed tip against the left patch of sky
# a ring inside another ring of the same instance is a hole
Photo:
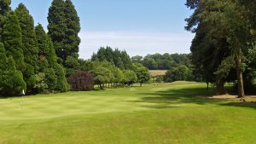
[[[23,72],[24,80],[27,91],[31,93],[36,84],[35,75],[38,73],[38,42],[34,31],[34,20],[22,3],[15,9],[15,14],[20,21],[22,33],[22,49],[26,64],[26,70]]]

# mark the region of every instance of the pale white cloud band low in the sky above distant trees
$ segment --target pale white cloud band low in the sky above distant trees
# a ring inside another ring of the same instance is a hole
[[[125,49],[129,55],[189,53],[194,34],[183,32],[81,32],[81,58],[89,59],[101,46]]]

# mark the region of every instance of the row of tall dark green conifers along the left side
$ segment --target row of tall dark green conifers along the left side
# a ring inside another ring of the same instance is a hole
[[[79,64],[79,17],[71,0],[54,0],[48,33],[23,3],[0,2],[0,95],[65,92],[66,76]],[[67,72],[67,73],[66,73]]]

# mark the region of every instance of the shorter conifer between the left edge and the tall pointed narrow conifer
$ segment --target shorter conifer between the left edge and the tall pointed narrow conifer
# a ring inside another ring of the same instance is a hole
[[[13,56],[16,68],[24,72],[25,63],[22,50],[20,22],[15,12],[10,12],[4,19],[2,40],[6,48],[6,55]]]

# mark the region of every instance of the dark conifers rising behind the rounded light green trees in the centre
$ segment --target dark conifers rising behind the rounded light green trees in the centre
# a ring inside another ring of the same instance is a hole
[[[92,55],[91,60],[93,61],[108,61],[114,66],[120,69],[131,69],[132,63],[130,56],[126,51],[120,51],[119,49],[112,49],[107,46],[107,48],[98,49],[97,53]]]

